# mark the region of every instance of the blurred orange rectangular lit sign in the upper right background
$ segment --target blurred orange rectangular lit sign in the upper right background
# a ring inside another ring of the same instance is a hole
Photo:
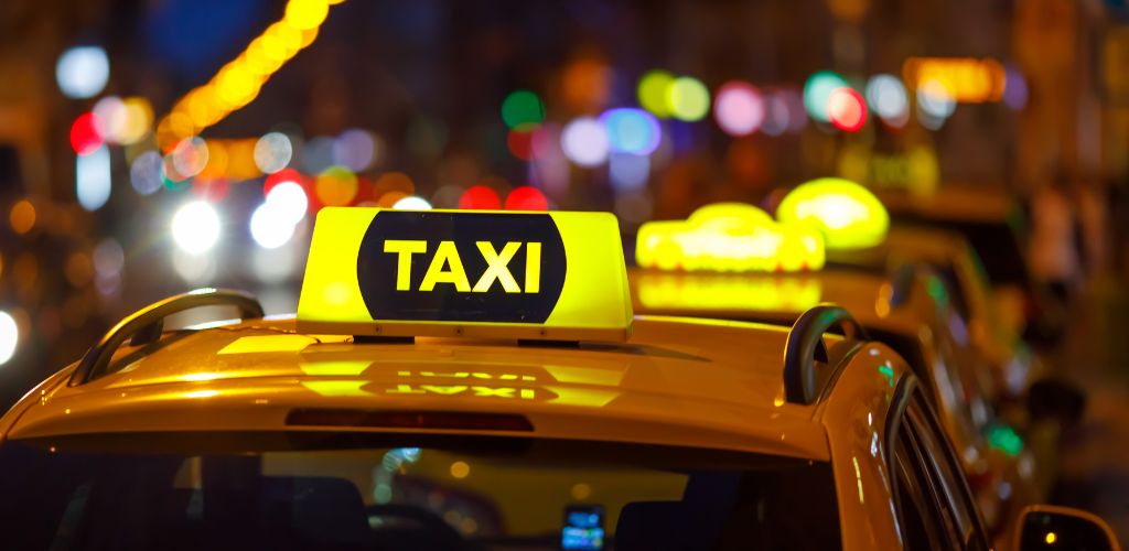
[[[1004,65],[988,58],[910,58],[902,65],[905,86],[918,89],[936,82],[961,103],[999,102],[1005,76]]]

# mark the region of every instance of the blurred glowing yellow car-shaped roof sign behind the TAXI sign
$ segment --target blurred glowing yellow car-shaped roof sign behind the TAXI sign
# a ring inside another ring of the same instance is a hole
[[[776,272],[823,268],[823,238],[743,203],[708,204],[685,220],[639,228],[636,262],[659,270]]]

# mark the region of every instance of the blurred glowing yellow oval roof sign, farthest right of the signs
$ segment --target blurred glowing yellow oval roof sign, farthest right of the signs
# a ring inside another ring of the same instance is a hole
[[[788,192],[777,208],[785,224],[812,225],[828,248],[864,248],[882,243],[890,215],[878,198],[855,182],[819,178]]]

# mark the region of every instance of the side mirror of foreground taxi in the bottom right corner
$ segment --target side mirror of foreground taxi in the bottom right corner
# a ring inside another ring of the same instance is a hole
[[[1051,505],[1023,509],[1012,548],[1019,551],[1121,551],[1113,531],[1101,517]]]

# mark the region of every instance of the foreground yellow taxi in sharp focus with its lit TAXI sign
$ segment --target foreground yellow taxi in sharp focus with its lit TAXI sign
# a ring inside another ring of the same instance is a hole
[[[126,317],[0,418],[0,472],[9,549],[988,549],[896,352],[828,305],[634,316],[607,213],[324,209],[296,316]]]

